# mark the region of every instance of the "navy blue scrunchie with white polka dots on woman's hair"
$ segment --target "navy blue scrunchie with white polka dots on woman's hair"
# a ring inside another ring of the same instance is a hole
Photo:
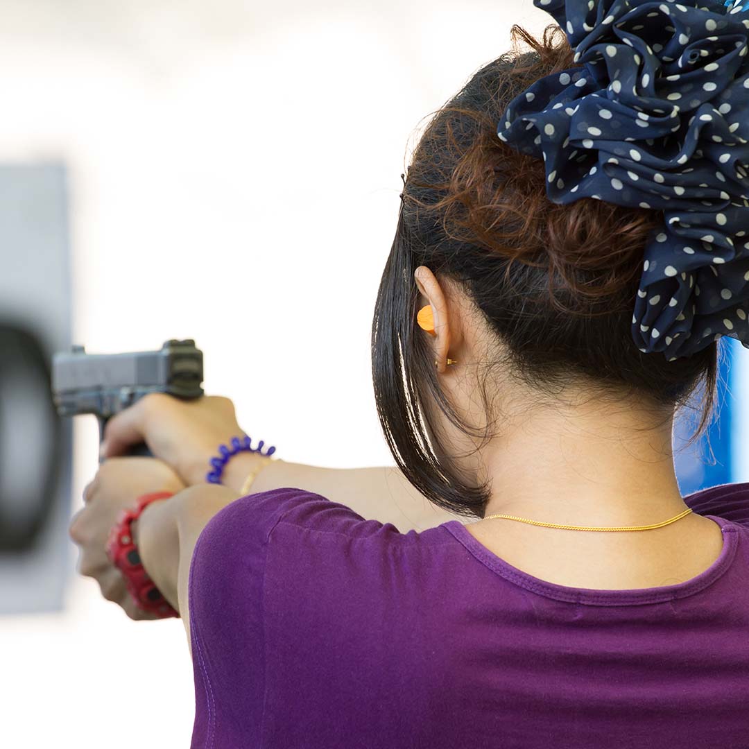
[[[664,211],[632,317],[669,361],[749,348],[749,0],[534,0],[581,67],[516,97],[497,136],[545,160],[555,203]]]

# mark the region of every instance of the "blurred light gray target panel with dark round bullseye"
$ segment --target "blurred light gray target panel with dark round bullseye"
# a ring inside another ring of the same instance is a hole
[[[70,329],[64,166],[0,165],[0,613],[63,607],[72,431],[49,363]]]

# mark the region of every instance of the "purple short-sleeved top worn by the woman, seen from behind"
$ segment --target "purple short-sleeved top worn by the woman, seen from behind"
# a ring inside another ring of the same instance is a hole
[[[548,583],[459,521],[400,533],[299,488],[204,528],[189,571],[192,749],[749,747],[749,482],[684,583]]]

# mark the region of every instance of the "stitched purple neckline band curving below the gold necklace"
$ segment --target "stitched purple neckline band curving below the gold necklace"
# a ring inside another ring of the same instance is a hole
[[[732,521],[726,518],[720,518],[718,515],[704,515],[715,521],[723,533],[723,548],[718,559],[712,563],[706,570],[703,570],[696,577],[685,580],[683,583],[676,585],[665,585],[654,588],[631,588],[631,589],[593,589],[593,588],[575,588],[566,585],[542,580],[532,574],[509,564],[494,552],[489,551],[482,543],[476,540],[466,529],[465,525],[458,520],[447,521],[443,528],[452,533],[466,549],[492,571],[500,574],[501,577],[509,580],[521,588],[530,592],[544,595],[547,598],[554,598],[557,601],[567,601],[568,603],[589,604],[592,606],[628,606],[632,604],[655,604],[663,601],[673,601],[675,598],[686,598],[688,595],[694,595],[700,590],[705,589],[710,584],[718,580],[725,571],[730,567],[733,558],[736,556],[736,549],[739,544],[739,534]]]

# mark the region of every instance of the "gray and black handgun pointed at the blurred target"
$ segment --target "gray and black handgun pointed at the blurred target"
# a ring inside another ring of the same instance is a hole
[[[203,395],[203,352],[195,341],[167,341],[158,351],[87,354],[83,346],[52,356],[52,401],[60,416],[93,413],[99,443],[106,422],[149,392],[189,400]],[[151,456],[141,443],[128,455]],[[100,458],[100,462],[101,462]]]

